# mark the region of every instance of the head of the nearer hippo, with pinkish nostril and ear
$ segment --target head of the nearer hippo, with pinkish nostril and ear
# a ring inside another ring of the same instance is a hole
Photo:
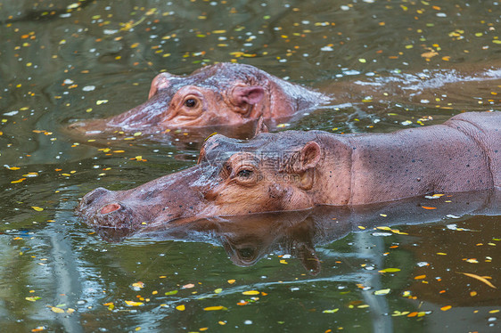
[[[216,134],[203,144],[196,166],[132,190],[91,191],[77,211],[94,226],[136,230],[175,219],[313,207],[349,184],[349,176],[321,167],[326,150],[320,133],[262,133],[249,141]],[[338,189],[324,177],[333,177]],[[346,198],[342,192],[341,204]]]

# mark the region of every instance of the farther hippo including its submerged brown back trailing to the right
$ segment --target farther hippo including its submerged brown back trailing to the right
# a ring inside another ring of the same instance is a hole
[[[318,108],[339,110],[359,103],[364,110],[366,101],[376,103],[375,109],[371,105],[371,113],[382,115],[389,103],[421,104],[437,96],[448,96],[448,102],[458,103],[457,109],[471,109],[472,102],[478,109],[473,97],[481,97],[501,82],[500,63],[456,67],[382,73],[356,81],[327,80],[319,93],[250,65],[221,62],[185,77],[160,73],[153,78],[149,98],[143,104],[111,118],[78,121],[63,130],[77,139],[83,135],[105,140],[111,134],[141,132],[155,141],[196,142],[198,149],[214,132],[249,138],[261,117],[275,128]],[[491,98],[490,94],[486,97],[488,101]],[[492,100],[489,105],[498,102]],[[366,117],[364,111],[359,112],[362,116],[357,117]]]

